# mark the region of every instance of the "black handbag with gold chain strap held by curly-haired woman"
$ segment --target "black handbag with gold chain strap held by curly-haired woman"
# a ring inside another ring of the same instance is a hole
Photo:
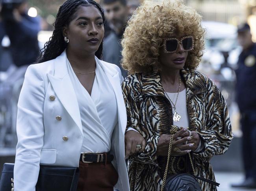
[[[173,143],[173,135],[179,131],[179,127],[177,126],[171,126],[171,138],[169,143],[169,150],[168,150],[168,156],[167,156],[167,164],[165,167],[165,173],[163,175],[163,184],[161,185],[161,191],[202,191],[200,184],[198,183],[197,179],[208,182],[210,184],[213,184],[215,186],[219,186],[219,183],[214,182],[212,180],[208,180],[206,178],[201,178],[198,176],[195,176],[195,169],[193,165],[193,160],[188,153],[189,161],[191,164],[191,168],[193,170],[193,174],[190,175],[189,173],[178,173],[175,175],[172,175],[167,178],[167,172],[169,168],[169,161],[171,158],[171,150],[172,150],[172,143]]]

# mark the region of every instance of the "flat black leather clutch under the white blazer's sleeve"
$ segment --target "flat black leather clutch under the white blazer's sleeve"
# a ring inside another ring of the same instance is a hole
[[[15,180],[13,180],[13,168],[14,164],[4,164],[0,177],[0,191],[14,190]],[[40,171],[35,190],[76,191],[78,178],[78,167],[40,165]]]

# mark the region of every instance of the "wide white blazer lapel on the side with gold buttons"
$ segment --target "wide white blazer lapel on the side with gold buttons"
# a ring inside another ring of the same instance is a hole
[[[47,74],[47,76],[56,96],[59,98],[61,104],[65,107],[83,135],[78,101],[67,70],[66,51],[55,59],[54,75]]]

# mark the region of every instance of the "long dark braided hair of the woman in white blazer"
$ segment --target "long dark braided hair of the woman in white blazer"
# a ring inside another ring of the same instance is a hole
[[[64,41],[62,30],[64,26],[68,26],[72,21],[72,16],[77,11],[79,6],[95,6],[101,13],[103,23],[105,24],[106,18],[104,16],[104,10],[94,0],[67,0],[59,7],[56,21],[54,22],[54,31],[49,41],[45,43],[43,49],[41,49],[41,55],[37,59],[37,63],[46,62],[57,58],[67,48],[67,43]],[[95,53],[97,58],[102,57],[103,40]]]

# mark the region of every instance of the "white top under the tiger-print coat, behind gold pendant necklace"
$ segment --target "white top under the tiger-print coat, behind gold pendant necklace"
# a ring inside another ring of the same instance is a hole
[[[178,93],[169,93],[169,92],[165,92],[165,95],[169,99],[172,100],[172,102],[175,104],[176,98]],[[170,100],[169,100],[170,101]],[[170,102],[171,106],[172,106],[172,110],[173,110],[173,115],[174,115],[174,107],[173,104]],[[189,116],[187,113],[187,100],[186,100],[186,89],[184,89],[183,91],[181,91],[178,95],[178,99],[176,102],[176,112],[178,114],[180,114],[181,118],[180,121],[174,122],[173,121],[173,125],[178,126],[178,127],[189,127]],[[202,149],[204,149],[204,144],[202,144],[202,141],[200,139],[200,143],[197,147],[197,149],[195,150],[195,153],[202,151]]]

